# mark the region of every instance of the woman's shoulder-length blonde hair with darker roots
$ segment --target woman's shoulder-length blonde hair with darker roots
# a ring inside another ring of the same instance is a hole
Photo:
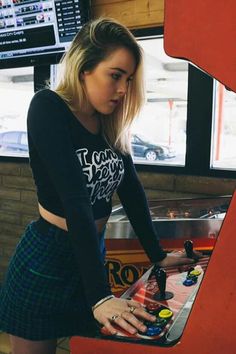
[[[55,91],[70,109],[86,109],[88,98],[81,74],[93,70],[112,51],[124,47],[133,54],[136,71],[122,103],[112,114],[100,113],[106,141],[122,153],[130,152],[129,128],[144,102],[142,49],[132,33],[111,18],[99,18],[86,23],[61,60],[62,75]]]

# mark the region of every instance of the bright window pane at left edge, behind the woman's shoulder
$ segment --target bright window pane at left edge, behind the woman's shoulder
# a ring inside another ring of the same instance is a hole
[[[0,156],[28,157],[26,117],[33,67],[0,70]]]

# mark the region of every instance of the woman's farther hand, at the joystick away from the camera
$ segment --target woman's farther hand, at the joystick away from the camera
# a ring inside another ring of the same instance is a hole
[[[173,251],[171,253],[167,253],[166,258],[156,264],[160,267],[181,266],[184,264],[196,263],[196,261],[202,257],[203,255],[197,251],[193,251],[193,258],[188,258],[185,251]]]

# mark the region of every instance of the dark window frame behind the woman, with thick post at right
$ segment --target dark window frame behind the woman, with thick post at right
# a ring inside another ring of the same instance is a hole
[[[164,35],[164,27],[132,30],[137,39]],[[34,67],[35,92],[50,77],[50,65]],[[210,168],[214,79],[189,63],[185,166],[135,164],[140,172],[236,178],[236,170]],[[27,157],[0,156],[0,162],[28,163]]]

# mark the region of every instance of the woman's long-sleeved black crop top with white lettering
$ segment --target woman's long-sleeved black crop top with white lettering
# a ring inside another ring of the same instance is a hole
[[[94,220],[110,215],[115,190],[150,260],[166,256],[144,190],[131,156],[112,150],[101,134],[89,132],[55,92],[34,95],[27,126],[38,201],[66,218],[87,303],[92,306],[111,294]]]

